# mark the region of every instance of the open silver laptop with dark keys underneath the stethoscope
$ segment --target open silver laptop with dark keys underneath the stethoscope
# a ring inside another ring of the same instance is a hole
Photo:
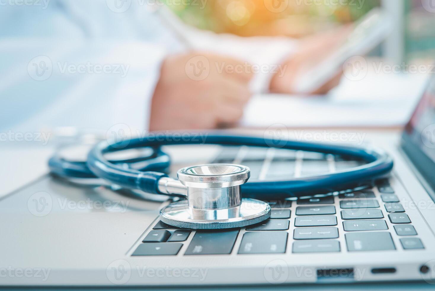
[[[370,141],[394,158],[391,176],[357,189],[271,199],[271,218],[241,229],[176,229],[159,220],[159,209],[171,201],[165,197],[141,200],[98,181],[43,175],[0,200],[1,284],[435,283],[434,123],[432,78],[402,136]],[[165,150],[174,157],[172,176],[201,162],[249,166],[252,180],[333,173],[363,163],[245,146]]]

